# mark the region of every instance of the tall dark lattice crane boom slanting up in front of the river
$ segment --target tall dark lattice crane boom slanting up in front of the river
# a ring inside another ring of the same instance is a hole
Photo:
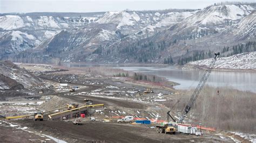
[[[214,67],[215,62],[217,61],[217,58],[220,55],[220,53],[215,53],[214,55],[215,55],[215,57],[212,59],[210,66],[205,70],[205,73],[204,73],[203,77],[201,78],[199,84],[197,85],[197,88],[194,90],[194,92],[190,98],[190,101],[186,105],[182,115],[180,115],[180,117],[179,117],[180,123],[183,123],[183,120],[187,116],[187,113],[190,111],[194,102],[196,102],[196,99],[197,99],[198,95],[200,94],[200,91],[203,89],[204,84],[207,81],[207,78],[210,76],[212,68]]]

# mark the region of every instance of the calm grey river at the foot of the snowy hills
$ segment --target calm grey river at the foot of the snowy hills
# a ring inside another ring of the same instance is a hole
[[[72,65],[71,67],[107,66],[128,71],[153,74],[165,77],[180,85],[176,89],[194,89],[204,74],[204,70],[180,69],[176,67],[158,66],[118,66],[118,65]],[[242,91],[256,92],[256,72],[253,71],[212,71],[206,85],[213,87],[231,87]]]

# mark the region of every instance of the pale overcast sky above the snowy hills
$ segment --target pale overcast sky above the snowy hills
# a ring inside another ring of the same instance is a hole
[[[163,9],[203,9],[208,5],[235,0],[0,0],[0,13],[8,12],[99,12]],[[240,0],[236,2],[256,2]]]

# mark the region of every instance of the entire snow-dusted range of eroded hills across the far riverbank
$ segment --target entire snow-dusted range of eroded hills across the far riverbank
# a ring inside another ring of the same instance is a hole
[[[251,46],[247,52],[251,52],[256,29],[251,5],[93,14],[2,14],[0,59],[58,63],[78,60],[178,63],[182,60],[187,63],[208,58],[209,50],[247,42]],[[200,54],[200,58],[195,54]]]

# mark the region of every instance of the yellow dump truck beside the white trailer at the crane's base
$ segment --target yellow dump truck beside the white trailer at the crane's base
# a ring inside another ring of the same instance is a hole
[[[176,126],[176,123],[161,123],[161,124],[157,124],[156,128],[157,128],[157,132],[158,133],[172,133],[175,134],[176,133],[176,128],[174,127]]]

